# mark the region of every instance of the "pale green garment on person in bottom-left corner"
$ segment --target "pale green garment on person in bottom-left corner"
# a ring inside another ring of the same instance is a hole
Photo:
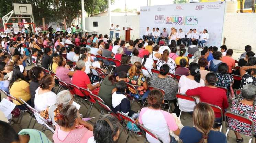
[[[52,143],[44,133],[36,129],[23,129],[19,135],[29,135],[29,143]]]

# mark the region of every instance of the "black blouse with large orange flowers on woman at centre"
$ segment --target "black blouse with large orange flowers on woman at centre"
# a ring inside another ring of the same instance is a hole
[[[130,78],[128,75],[127,82],[132,84],[138,90],[140,95],[143,95],[146,92],[145,88],[143,87],[143,83],[146,82],[146,78],[143,74],[135,75],[132,78]],[[132,88],[129,88],[129,90],[132,94],[134,94],[134,96],[136,95],[135,90],[133,90]]]

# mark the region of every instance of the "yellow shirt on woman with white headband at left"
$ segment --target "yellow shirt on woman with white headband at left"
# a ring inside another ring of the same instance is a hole
[[[23,80],[18,80],[13,83],[12,87],[10,88],[10,94],[17,99],[22,98],[24,101],[29,101],[31,96],[27,93],[24,89],[29,87],[29,83]],[[21,105],[19,102],[13,100],[13,103],[16,105]]]

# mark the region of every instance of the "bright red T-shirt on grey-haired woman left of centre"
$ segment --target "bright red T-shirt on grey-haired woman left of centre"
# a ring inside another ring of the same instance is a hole
[[[87,89],[87,84],[90,84],[90,78],[84,71],[77,70],[72,77],[72,84]],[[84,96],[80,90],[75,89],[75,92],[79,96]]]

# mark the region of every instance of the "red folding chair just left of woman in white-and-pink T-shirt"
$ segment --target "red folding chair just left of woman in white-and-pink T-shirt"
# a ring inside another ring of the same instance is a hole
[[[121,121],[122,126],[125,127],[126,130],[128,130],[128,132],[129,132],[129,133],[128,133],[128,137],[127,137],[127,139],[126,139],[126,143],[129,141],[129,138],[130,138],[130,136],[131,136],[131,133],[134,133],[137,137],[142,136],[142,132],[141,132],[141,131],[140,131],[140,132],[134,132],[133,130],[127,128],[127,124],[125,123],[125,120],[126,120],[126,121],[130,121],[131,123],[137,125],[134,119],[132,119],[131,117],[129,117],[129,116],[127,116],[127,115],[125,115],[125,114],[123,114],[123,113],[121,113],[121,112],[119,112],[119,111],[116,112],[116,115],[119,116],[119,117],[122,119],[122,121]]]

